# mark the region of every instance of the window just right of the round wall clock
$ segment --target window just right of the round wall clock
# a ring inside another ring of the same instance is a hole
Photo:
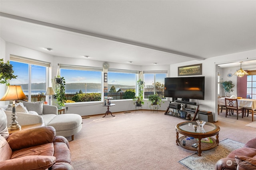
[[[108,70],[108,96],[113,100],[132,99],[136,94],[137,71]]]

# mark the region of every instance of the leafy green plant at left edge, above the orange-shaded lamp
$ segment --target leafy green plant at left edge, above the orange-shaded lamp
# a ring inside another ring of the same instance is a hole
[[[6,84],[6,86],[10,86],[8,80],[17,77],[13,75],[14,70],[12,70],[12,67],[13,66],[10,64],[10,61],[4,63],[4,59],[0,59],[0,84]]]

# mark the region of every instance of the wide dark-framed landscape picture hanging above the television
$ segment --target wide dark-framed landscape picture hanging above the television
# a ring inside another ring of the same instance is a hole
[[[202,63],[178,67],[178,76],[202,75]]]

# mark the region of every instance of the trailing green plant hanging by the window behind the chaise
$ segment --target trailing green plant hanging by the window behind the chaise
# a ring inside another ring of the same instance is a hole
[[[55,77],[55,92],[56,92],[56,100],[57,104],[60,107],[65,106],[65,79],[64,77],[57,76]]]

